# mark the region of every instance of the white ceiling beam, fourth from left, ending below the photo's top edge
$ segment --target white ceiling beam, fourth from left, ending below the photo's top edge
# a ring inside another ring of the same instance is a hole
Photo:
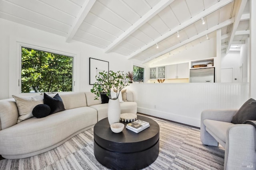
[[[192,41],[194,41],[196,39],[199,39],[200,37],[203,37],[206,34],[210,34],[210,33],[214,32],[214,31],[216,31],[218,29],[221,29],[222,27],[230,25],[233,22],[234,22],[234,18],[231,18],[231,19],[226,20],[226,21],[224,21],[222,23],[219,23],[218,25],[215,25],[214,27],[211,27],[211,28],[207,29],[206,31],[198,33],[197,35],[195,35],[193,37],[190,37],[189,39],[186,39],[185,41],[182,41],[182,42],[180,42],[180,43],[178,43],[178,44],[176,44],[176,45],[174,45],[174,46],[172,46],[172,47],[170,47],[170,48],[168,48],[168,49],[166,49],[166,50],[164,50],[164,51],[162,51],[162,52],[160,52],[160,53],[158,53],[156,55],[153,55],[152,57],[144,60],[142,62],[142,64],[145,64],[148,61],[150,61],[152,59],[155,59],[156,57],[159,57],[159,56],[164,55],[164,54],[166,54],[166,53],[168,53],[168,52],[170,52],[170,51],[172,51],[172,50],[174,50],[174,49],[176,49],[178,47],[181,47],[182,45],[185,45],[185,44],[190,43],[190,42],[192,42]]]

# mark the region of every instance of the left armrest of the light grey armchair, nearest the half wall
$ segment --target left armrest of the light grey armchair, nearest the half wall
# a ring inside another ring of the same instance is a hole
[[[204,119],[231,122],[237,109],[208,109],[201,113],[200,138],[204,145],[218,146],[218,141],[205,129]]]

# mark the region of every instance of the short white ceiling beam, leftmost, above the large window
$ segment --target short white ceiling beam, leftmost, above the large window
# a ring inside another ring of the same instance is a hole
[[[82,5],[78,15],[76,16],[76,20],[72,24],[70,30],[68,31],[68,35],[66,37],[66,42],[70,43],[74,35],[76,34],[76,31],[86,18],[87,14],[90,12],[93,4],[96,2],[96,0],[86,0],[84,4]]]

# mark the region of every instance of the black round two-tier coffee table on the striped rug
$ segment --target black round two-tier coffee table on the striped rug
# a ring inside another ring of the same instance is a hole
[[[125,128],[121,133],[110,129],[108,118],[94,125],[94,155],[110,169],[142,169],[152,164],[159,154],[159,125],[154,120],[138,115],[150,127],[135,133]]]

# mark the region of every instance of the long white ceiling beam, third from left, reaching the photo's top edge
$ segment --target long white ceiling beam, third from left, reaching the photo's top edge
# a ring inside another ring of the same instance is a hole
[[[162,36],[158,37],[157,39],[155,39],[154,41],[148,43],[147,45],[145,45],[144,47],[140,48],[139,50],[135,51],[134,53],[130,54],[127,59],[132,59],[133,57],[135,57],[136,55],[138,55],[139,53],[145,51],[146,49],[152,47],[153,45],[155,45],[156,43],[159,43],[160,41],[163,41],[164,39],[166,39],[167,37],[170,37],[171,35],[173,35],[174,33],[176,33],[177,31],[180,31],[181,29],[184,29],[185,27],[187,27],[188,25],[191,25],[192,23],[200,20],[201,18],[204,18],[205,16],[207,16],[208,14],[211,14],[212,12],[218,10],[219,8],[221,8],[222,6],[225,6],[226,4],[232,2],[233,0],[221,0],[220,2],[210,6],[209,8],[207,8],[206,10],[202,11],[201,13],[197,14],[196,16],[190,18],[189,20],[185,21],[184,23],[181,23],[180,25],[178,25],[177,27],[175,27],[174,29],[168,31],[167,33],[163,34]]]

